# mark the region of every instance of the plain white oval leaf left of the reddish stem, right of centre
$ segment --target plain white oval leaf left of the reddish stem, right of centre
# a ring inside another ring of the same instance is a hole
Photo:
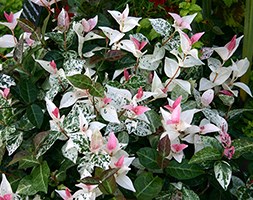
[[[164,64],[164,72],[169,78],[178,77],[180,74],[179,64],[175,60],[166,57]]]

